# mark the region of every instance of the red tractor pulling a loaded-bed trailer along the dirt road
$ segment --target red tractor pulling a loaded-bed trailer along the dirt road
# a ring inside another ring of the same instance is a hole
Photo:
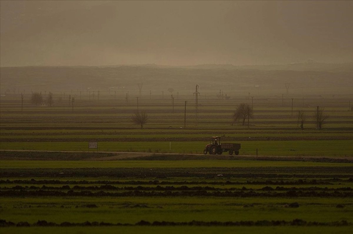
[[[239,143],[222,143],[221,144],[221,137],[213,136],[210,139],[210,143],[206,145],[205,149],[203,150],[204,154],[219,154],[221,155],[223,152],[228,152],[229,155],[239,154],[240,144]]]

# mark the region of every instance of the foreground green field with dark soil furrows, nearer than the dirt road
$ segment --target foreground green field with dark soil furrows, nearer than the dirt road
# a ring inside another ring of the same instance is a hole
[[[205,233],[238,230],[244,233],[260,230],[349,233],[353,222],[352,171],[352,163],[297,161],[2,160],[0,213],[3,219],[14,223],[33,224],[46,220],[57,224],[88,221],[134,225],[99,227],[108,233],[196,230],[190,225],[139,227],[136,223],[141,220],[153,223],[193,220],[292,222],[297,219],[326,224],[315,224],[315,227],[313,224],[201,225],[197,230],[205,230]],[[298,207],[291,208],[292,203],[298,203]],[[328,224],[342,220],[348,226]],[[28,232],[93,233],[97,228],[34,225]],[[22,230],[19,227],[1,228],[4,233]]]

